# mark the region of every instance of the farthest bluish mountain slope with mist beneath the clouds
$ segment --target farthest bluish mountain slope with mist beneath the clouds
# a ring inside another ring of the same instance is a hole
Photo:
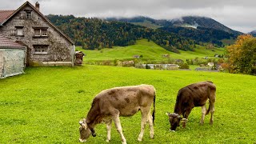
[[[183,38],[191,38],[197,44],[200,42],[214,43],[216,46],[224,46],[226,42],[223,39],[233,42],[241,32],[232,30],[222,23],[212,18],[187,16],[182,18],[174,18],[171,20],[157,20],[147,17],[135,18],[107,18],[109,21],[130,22],[139,26],[147,26],[154,29],[165,30],[174,33]]]

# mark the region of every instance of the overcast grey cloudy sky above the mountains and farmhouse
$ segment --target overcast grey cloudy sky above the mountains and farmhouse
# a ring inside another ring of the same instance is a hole
[[[256,30],[256,0],[29,0],[40,3],[42,14],[78,17],[172,19],[182,16],[214,18],[233,30]],[[0,10],[16,10],[26,0],[0,0]]]

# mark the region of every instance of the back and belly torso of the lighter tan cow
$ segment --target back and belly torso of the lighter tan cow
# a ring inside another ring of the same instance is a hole
[[[119,110],[120,116],[131,116],[138,112],[141,106],[151,106],[154,100],[154,86],[124,86],[103,90],[95,98],[99,101],[101,114],[110,114]]]

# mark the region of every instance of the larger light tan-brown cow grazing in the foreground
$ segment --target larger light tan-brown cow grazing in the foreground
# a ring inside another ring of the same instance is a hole
[[[150,114],[150,107],[155,103],[155,89],[150,85],[115,87],[110,90],[103,90],[99,93],[92,103],[87,117],[80,121],[80,142],[92,134],[96,136],[94,126],[100,122],[106,123],[107,137],[106,142],[110,141],[110,130],[112,121],[122,138],[122,143],[126,143],[126,138],[122,134],[122,126],[119,116],[129,117],[136,114],[139,110],[142,114],[141,132],[138,141],[142,141],[146,122],[150,126],[150,138],[154,138],[154,111]]]

